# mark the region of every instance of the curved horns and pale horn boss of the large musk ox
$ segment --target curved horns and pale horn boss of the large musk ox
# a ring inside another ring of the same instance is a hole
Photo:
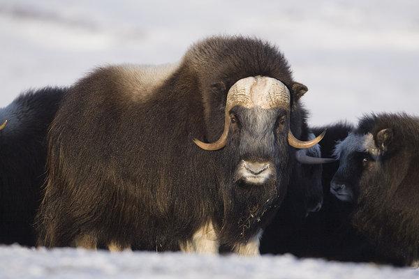
[[[238,80],[227,94],[224,130],[219,140],[212,143],[201,142],[194,139],[196,145],[207,151],[216,151],[226,146],[228,139],[228,130],[230,126],[230,110],[235,106],[245,107],[247,109],[260,107],[265,110],[272,108],[284,108],[289,110],[291,103],[291,94],[286,85],[272,77],[245,77]],[[288,127],[289,128],[289,127]],[[318,137],[309,141],[297,140],[291,130],[288,130],[288,144],[297,149],[308,149],[320,142],[325,135],[325,131]],[[322,161],[322,158],[312,158],[307,160],[307,156],[297,156],[301,158],[301,163],[328,163]]]

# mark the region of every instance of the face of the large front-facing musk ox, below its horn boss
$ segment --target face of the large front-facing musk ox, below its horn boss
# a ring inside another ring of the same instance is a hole
[[[279,163],[286,159],[289,113],[233,107],[226,152],[229,174],[240,186],[263,186],[277,180]]]

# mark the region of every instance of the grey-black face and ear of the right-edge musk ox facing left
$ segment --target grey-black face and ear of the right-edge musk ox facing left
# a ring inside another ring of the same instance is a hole
[[[380,168],[383,153],[392,137],[391,129],[372,133],[351,133],[339,142],[335,156],[339,168],[330,183],[330,191],[344,202],[354,202],[360,194],[360,183]],[[375,140],[374,140],[375,138]]]

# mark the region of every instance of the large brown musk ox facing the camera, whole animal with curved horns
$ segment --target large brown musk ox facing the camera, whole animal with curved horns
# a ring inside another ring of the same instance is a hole
[[[242,37],[94,70],[52,123],[38,244],[257,255],[294,148],[322,137],[297,140],[306,91],[281,52]]]

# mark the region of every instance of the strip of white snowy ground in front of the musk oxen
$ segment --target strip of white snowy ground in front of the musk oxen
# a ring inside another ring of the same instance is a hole
[[[0,247],[0,278],[404,279],[419,278],[419,270],[318,259],[297,260],[291,255],[256,259],[181,253],[29,250],[14,246]]]

